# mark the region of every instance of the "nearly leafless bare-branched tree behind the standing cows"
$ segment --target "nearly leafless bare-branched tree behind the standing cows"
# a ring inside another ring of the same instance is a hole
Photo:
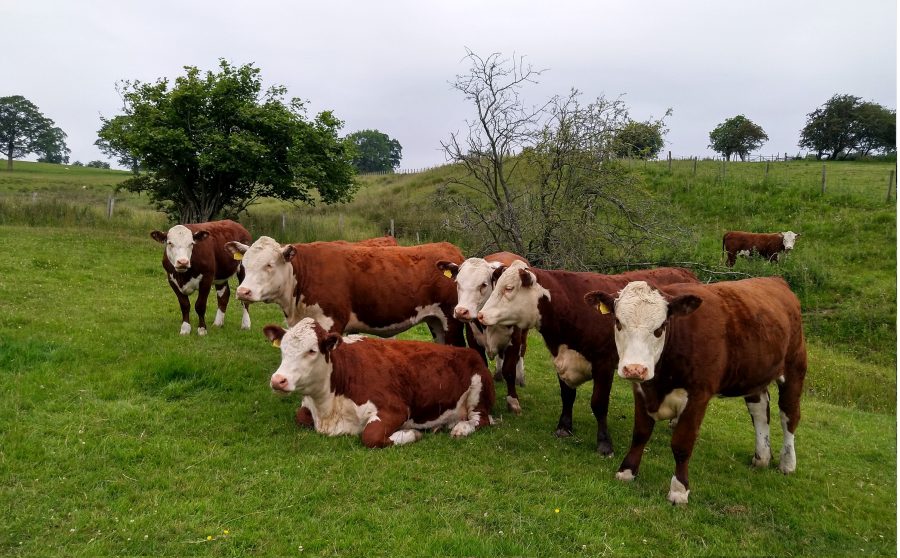
[[[442,142],[461,169],[437,192],[448,226],[481,251],[510,250],[537,266],[570,269],[634,256],[665,234],[634,177],[611,160],[628,116],[621,100],[583,104],[572,90],[529,107],[520,93],[541,71],[499,53],[467,51],[467,58],[469,73],[453,87],[475,116]]]

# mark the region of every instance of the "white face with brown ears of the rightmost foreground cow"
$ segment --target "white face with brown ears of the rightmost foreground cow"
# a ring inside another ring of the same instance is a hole
[[[591,306],[616,317],[615,339],[619,376],[634,382],[652,380],[666,344],[666,326],[675,316],[685,316],[700,306],[694,295],[666,298],[644,281],[632,281],[619,297],[604,291],[584,295]]]

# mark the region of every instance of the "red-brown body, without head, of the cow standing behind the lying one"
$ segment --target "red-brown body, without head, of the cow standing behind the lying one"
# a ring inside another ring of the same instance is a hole
[[[294,302],[300,304],[302,296],[303,304],[318,304],[334,320],[332,331],[349,332],[351,313],[370,327],[383,328],[410,319],[417,308],[439,304],[452,326],[452,343],[464,343],[462,327],[452,318],[456,286],[441,276],[436,265],[440,260],[461,263],[462,252],[456,246],[447,242],[409,247],[324,242],[293,246]]]

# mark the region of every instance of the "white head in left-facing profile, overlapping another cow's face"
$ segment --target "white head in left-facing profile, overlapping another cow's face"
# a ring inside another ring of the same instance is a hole
[[[538,301],[544,297],[549,300],[550,291],[537,282],[525,262],[515,261],[500,273],[494,291],[478,312],[478,320],[486,326],[538,327]]]

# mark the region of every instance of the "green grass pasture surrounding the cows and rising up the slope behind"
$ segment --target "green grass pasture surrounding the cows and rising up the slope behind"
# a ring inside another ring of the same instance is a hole
[[[355,438],[300,431],[297,398],[267,384],[279,353],[261,328],[281,321],[276,308],[253,306],[249,332],[238,329],[234,305],[223,329],[179,336],[161,248],[147,234],[164,219],[128,194],[119,194],[121,214],[106,217],[124,175],[17,163],[11,175],[0,172],[0,554],[894,554],[895,205],[855,185],[807,198],[800,186],[736,174],[691,182],[664,165],[641,170],[645,187],[672,200],[696,241],[691,252],[660,258],[719,269],[726,224],[804,233],[782,267],[736,268],[783,270],[804,301],[810,372],[795,475],[750,469],[746,408],[721,399],[703,424],[686,508],[665,500],[673,471],[665,424],[640,478],[615,481],[630,439],[627,386],[613,390],[615,458],[594,453],[588,386],[576,402],[576,436],[554,438],[557,381],[537,336],[520,390],[524,414],[498,405],[498,423],[469,438],[428,434],[369,451]],[[427,199],[434,180],[377,177],[350,206],[297,211],[271,202],[248,221],[254,235],[280,236],[284,210],[313,232],[321,222],[347,238],[380,234],[382,225],[355,208]],[[792,220],[766,217],[766,199],[791,206]],[[44,215],[52,208],[58,213]],[[737,216],[726,221],[726,211]],[[835,231],[846,235],[826,237]],[[422,328],[404,334],[426,336]],[[499,401],[503,394],[499,387]],[[777,426],[772,436],[780,447]]]

